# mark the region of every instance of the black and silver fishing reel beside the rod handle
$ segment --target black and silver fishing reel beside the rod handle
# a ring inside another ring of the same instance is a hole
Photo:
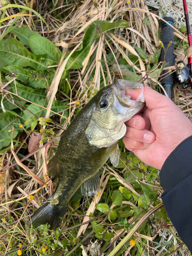
[[[181,84],[182,88],[190,86],[190,72],[188,65],[186,65],[182,60],[179,60],[173,71],[174,80]]]

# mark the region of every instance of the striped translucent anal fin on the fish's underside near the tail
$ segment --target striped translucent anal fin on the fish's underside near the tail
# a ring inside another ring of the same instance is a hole
[[[81,193],[83,196],[91,197],[91,195],[96,194],[100,190],[100,178],[99,172],[92,176],[89,180],[81,185]]]

